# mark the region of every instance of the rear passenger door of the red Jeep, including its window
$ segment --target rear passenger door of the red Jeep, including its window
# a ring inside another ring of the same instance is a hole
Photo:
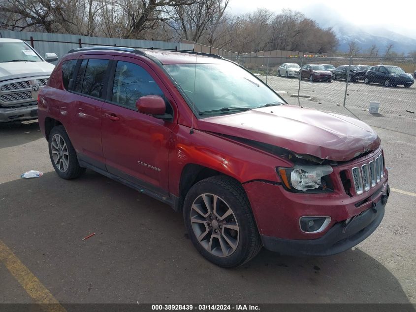
[[[113,56],[81,56],[61,114],[68,115],[69,138],[81,161],[105,170],[101,144],[101,108]],[[72,87],[72,89],[71,89]]]

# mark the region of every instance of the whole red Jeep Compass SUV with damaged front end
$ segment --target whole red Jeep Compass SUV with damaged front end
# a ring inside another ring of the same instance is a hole
[[[71,50],[38,110],[60,177],[89,168],[170,205],[196,249],[221,267],[262,246],[339,253],[384,216],[384,154],[368,125],[288,105],[220,56]]]

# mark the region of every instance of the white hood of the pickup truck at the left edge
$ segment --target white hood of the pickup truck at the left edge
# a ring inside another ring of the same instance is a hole
[[[0,63],[0,78],[20,74],[45,72],[50,74],[55,65],[48,62],[10,62]]]

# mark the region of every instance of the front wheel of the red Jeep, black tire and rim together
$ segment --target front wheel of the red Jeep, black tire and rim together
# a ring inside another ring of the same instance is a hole
[[[193,185],[184,221],[194,247],[220,267],[240,266],[262,247],[247,195],[230,177],[212,176]]]

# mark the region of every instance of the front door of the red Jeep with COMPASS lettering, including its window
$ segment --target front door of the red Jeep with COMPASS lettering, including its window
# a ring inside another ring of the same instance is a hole
[[[168,196],[168,151],[174,123],[140,113],[135,104],[142,96],[159,95],[166,111],[173,113],[173,100],[153,70],[137,59],[114,58],[112,72],[101,115],[105,166],[109,173]]]

